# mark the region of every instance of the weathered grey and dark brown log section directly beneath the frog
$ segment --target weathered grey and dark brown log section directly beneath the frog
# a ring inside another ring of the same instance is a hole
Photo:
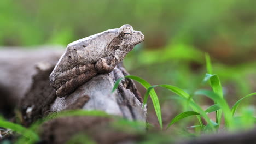
[[[26,113],[31,109],[26,118],[33,122],[49,112],[59,112],[68,107],[78,107],[85,110],[101,110],[112,115],[118,115],[130,120],[146,121],[146,108],[142,109],[142,98],[138,93],[132,80],[123,80],[118,89],[111,93],[115,81],[127,75],[123,66],[119,64],[111,73],[100,74],[86,82],[76,91],[65,98],[56,97],[55,90],[49,85],[49,74],[54,65],[49,69],[38,72],[33,77],[33,84],[25,97],[22,98],[20,106]],[[83,97],[88,97],[84,104]],[[77,103],[77,102],[80,103]]]

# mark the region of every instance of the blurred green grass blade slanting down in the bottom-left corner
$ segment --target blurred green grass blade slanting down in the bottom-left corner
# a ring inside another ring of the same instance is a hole
[[[11,122],[5,121],[4,119],[0,119],[0,127],[8,128],[13,131],[16,131],[17,133],[27,137],[30,140],[33,140],[33,141],[39,140],[39,136],[36,133],[31,131],[30,129],[22,127],[19,124],[11,123]]]

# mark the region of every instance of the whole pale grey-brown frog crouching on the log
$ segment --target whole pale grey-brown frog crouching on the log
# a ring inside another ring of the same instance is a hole
[[[74,41],[57,62],[50,85],[58,97],[64,97],[97,74],[110,73],[143,40],[140,31],[123,25]]]

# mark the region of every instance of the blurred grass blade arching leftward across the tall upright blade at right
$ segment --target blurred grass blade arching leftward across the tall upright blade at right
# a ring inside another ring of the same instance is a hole
[[[216,104],[219,104],[220,108],[225,113],[225,122],[228,126],[231,128],[234,126],[234,119],[232,118],[231,111],[229,109],[228,103],[223,98],[220,98],[220,96],[213,91],[208,90],[199,90],[195,92],[196,95],[206,95],[206,97],[212,99]]]

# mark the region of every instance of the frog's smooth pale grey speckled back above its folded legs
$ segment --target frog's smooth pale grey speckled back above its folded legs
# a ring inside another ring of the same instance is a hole
[[[118,29],[109,29],[102,33],[79,39],[68,44],[65,53],[54,68],[55,73],[72,69],[78,65],[96,63],[108,53],[107,47],[115,36]]]

